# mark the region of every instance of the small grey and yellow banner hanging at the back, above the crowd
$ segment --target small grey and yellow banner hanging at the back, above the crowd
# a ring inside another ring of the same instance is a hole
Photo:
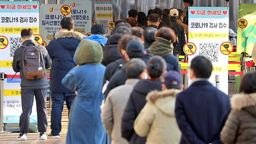
[[[107,36],[114,29],[113,5],[111,0],[95,0],[94,24],[103,23],[107,27]]]

